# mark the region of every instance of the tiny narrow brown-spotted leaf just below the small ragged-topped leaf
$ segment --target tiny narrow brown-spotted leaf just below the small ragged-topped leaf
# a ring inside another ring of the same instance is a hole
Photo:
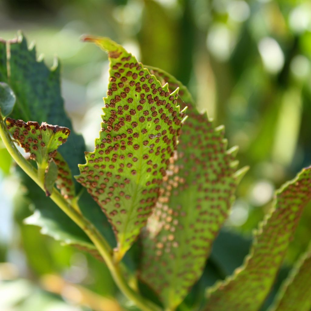
[[[56,153],[53,160],[58,169],[56,187],[60,190],[60,193],[65,199],[71,200],[75,196],[75,185],[72,180],[70,168],[59,152]]]

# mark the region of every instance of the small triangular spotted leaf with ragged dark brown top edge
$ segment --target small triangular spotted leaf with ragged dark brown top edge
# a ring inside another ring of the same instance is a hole
[[[26,152],[30,153],[30,159],[38,164],[46,163],[57,154],[57,148],[67,141],[70,130],[58,125],[50,125],[43,122],[14,120],[7,118],[7,129],[13,138]],[[50,140],[52,139],[52,142]],[[49,149],[47,149],[49,146]]]

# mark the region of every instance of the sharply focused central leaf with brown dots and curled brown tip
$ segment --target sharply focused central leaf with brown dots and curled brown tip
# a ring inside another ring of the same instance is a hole
[[[121,45],[107,38],[84,41],[108,52],[110,79],[100,137],[77,180],[113,225],[120,260],[151,215],[184,114],[176,105],[178,89],[169,93]]]

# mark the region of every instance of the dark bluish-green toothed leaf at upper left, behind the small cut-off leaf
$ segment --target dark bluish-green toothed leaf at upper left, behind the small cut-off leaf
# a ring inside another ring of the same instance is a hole
[[[49,69],[42,59],[37,60],[34,46],[28,49],[26,39],[21,34],[16,39],[0,40],[0,81],[6,82],[16,95],[12,118],[58,124],[72,129],[64,111],[58,60],[55,59],[53,67]],[[84,161],[84,151],[82,136],[72,131],[67,144],[59,149],[72,174],[78,173],[77,165]]]

